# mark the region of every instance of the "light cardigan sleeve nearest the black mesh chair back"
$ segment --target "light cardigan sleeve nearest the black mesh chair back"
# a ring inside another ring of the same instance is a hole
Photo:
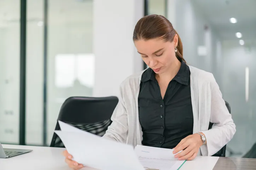
[[[124,82],[120,86],[119,101],[111,117],[112,123],[103,138],[125,143],[128,135],[128,121],[123,100],[123,84]]]

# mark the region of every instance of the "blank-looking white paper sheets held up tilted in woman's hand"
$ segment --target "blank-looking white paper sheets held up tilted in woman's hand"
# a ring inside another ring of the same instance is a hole
[[[144,170],[132,146],[59,124],[61,131],[55,133],[76,162],[99,170]]]

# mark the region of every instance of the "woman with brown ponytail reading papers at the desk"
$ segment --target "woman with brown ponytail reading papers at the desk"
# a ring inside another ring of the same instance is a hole
[[[161,15],[141,18],[133,41],[149,68],[121,84],[103,138],[183,150],[175,155],[179,160],[214,155],[232,139],[235,125],[213,74],[186,64],[178,33]],[[71,168],[82,167],[64,155]]]

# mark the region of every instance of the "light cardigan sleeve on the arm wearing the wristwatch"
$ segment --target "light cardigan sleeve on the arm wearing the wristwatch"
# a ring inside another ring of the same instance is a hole
[[[210,122],[214,123],[205,134],[207,144],[203,145],[202,155],[212,156],[225,146],[234,136],[235,124],[231,114],[228,112],[225,101],[213,74],[211,74],[211,114]]]

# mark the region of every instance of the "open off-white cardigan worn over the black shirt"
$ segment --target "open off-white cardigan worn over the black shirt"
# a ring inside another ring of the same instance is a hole
[[[190,67],[193,133],[203,132],[207,145],[200,147],[198,155],[212,156],[234,136],[235,124],[222,99],[213,74]],[[141,145],[138,96],[142,72],[129,76],[120,86],[119,102],[111,117],[113,121],[103,138],[133,145]],[[209,122],[213,127],[208,130]]]

